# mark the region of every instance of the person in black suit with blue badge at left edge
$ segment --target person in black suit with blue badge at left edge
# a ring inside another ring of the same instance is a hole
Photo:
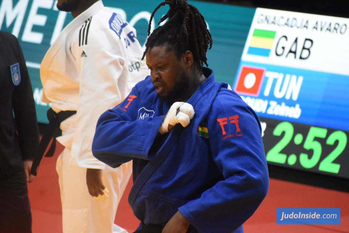
[[[0,232],[31,232],[27,182],[39,144],[33,90],[17,38],[0,31]]]

